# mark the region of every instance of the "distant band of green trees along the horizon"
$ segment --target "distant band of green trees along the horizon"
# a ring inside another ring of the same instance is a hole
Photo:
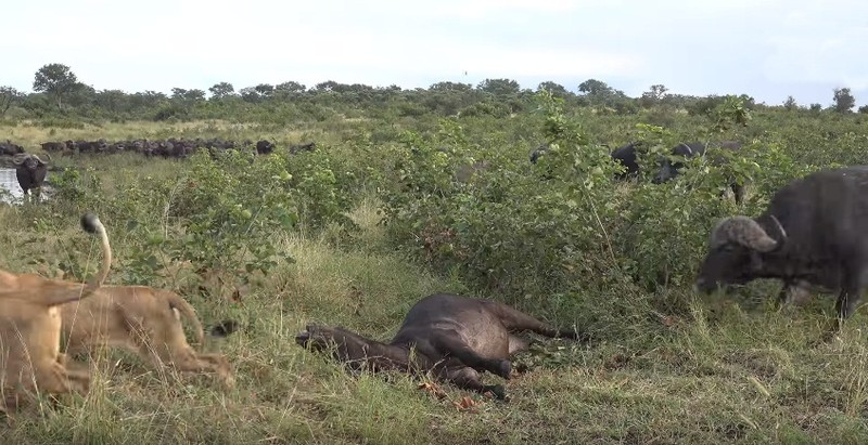
[[[476,86],[442,81],[427,89],[401,89],[397,86],[371,87],[361,83],[340,83],[327,80],[312,87],[296,81],[279,84],[259,83],[235,90],[230,82],[218,82],[207,89],[173,88],[170,94],[157,91],[128,93],[122,90],[97,90],[80,81],[63,64],[51,63],[34,76],[33,92],[13,87],[0,87],[0,118],[43,118],[63,116],[85,119],[200,119],[232,118],[247,115],[255,118],[255,108],[275,112],[290,106],[289,113],[278,113],[278,119],[310,118],[324,120],[334,114],[353,117],[418,117],[422,115],[509,116],[533,107],[533,95],[548,90],[554,96],[575,106],[595,107],[600,113],[629,115],[641,109],[672,107],[690,114],[710,115],[727,96],[693,96],[674,94],[663,84],[653,84],[638,97],[629,97],[598,79],[587,79],[575,91],[552,81],[537,89],[523,89],[512,79],[485,79]],[[767,107],[754,99],[738,96],[749,108]],[[802,106],[793,96],[778,107],[814,113],[853,113],[855,97],[848,88],[835,89],[832,106]],[[288,112],[283,109],[283,112]],[[294,113],[292,113],[294,112]],[[858,108],[868,113],[868,105]],[[374,116],[370,116],[373,114]],[[261,113],[260,113],[261,116]]]

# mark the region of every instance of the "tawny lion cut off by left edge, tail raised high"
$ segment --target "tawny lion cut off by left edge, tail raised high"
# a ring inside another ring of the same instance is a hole
[[[87,285],[0,271],[0,389],[8,407],[34,391],[86,393],[90,387],[89,372],[63,365],[58,306],[89,297],[102,286],[112,264],[112,248],[95,215],[82,215],[81,227],[102,240],[100,272]]]

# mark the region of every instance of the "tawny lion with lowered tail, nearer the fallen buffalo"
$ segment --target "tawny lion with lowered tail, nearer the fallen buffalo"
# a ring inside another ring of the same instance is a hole
[[[93,353],[101,345],[124,348],[156,369],[171,365],[181,372],[214,374],[232,388],[234,378],[226,356],[196,353],[187,342],[181,315],[193,325],[199,344],[204,344],[195,310],[178,293],[146,286],[104,286],[92,298],[61,306],[66,355]],[[228,326],[213,332],[231,333],[234,323]]]

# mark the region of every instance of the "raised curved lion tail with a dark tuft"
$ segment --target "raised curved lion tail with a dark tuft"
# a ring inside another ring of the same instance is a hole
[[[112,267],[112,246],[108,244],[108,234],[105,232],[105,226],[102,225],[95,214],[85,213],[81,217],[81,228],[85,232],[100,236],[102,241],[102,265],[100,266],[100,272],[93,275],[93,278],[86,285],[68,282],[51,282],[47,284],[42,289],[39,289],[39,299],[48,306],[55,306],[89,297],[102,286],[108,276],[108,270]]]

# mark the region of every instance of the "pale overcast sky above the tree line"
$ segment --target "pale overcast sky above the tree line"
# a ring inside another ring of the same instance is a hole
[[[510,78],[571,91],[868,104],[863,0],[3,0],[0,86],[48,63],[98,90],[295,80],[427,88]]]

